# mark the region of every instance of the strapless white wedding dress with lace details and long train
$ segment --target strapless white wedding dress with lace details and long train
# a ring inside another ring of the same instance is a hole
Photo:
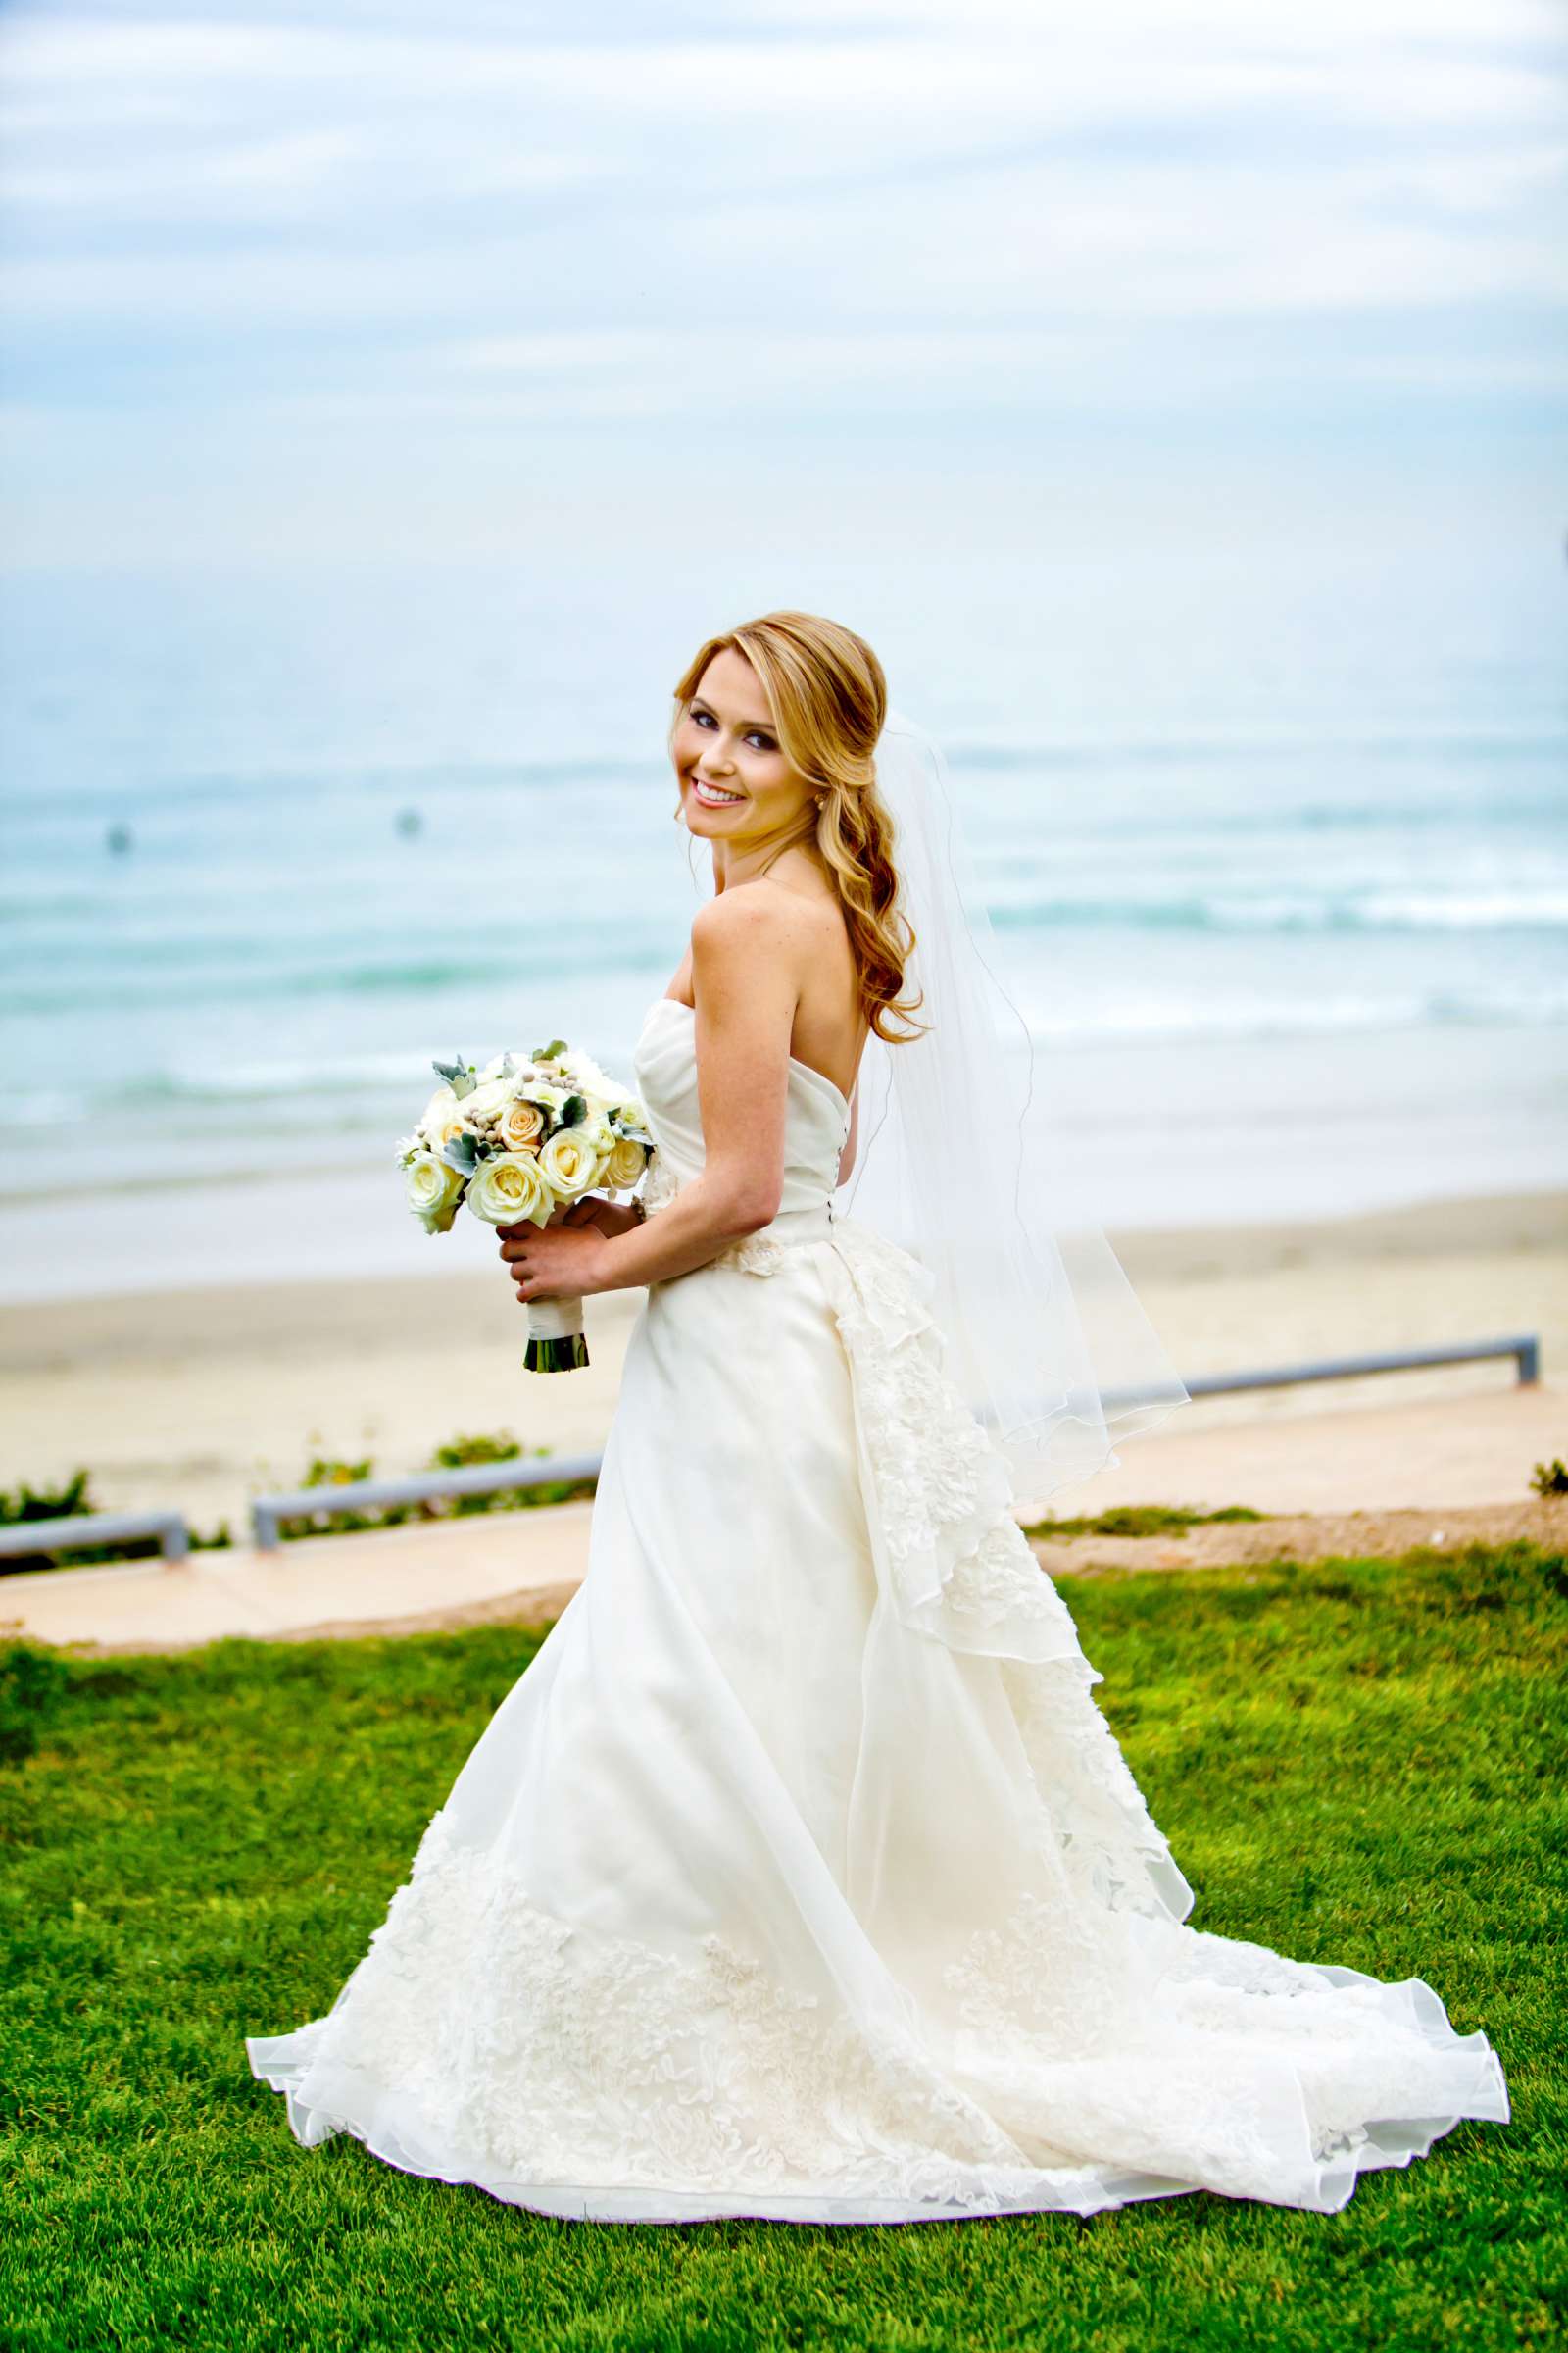
[[[637,1045],[651,1207],[693,1031]],[[585,1584],[254,2073],[306,2144],[604,2221],[1331,2212],[1505,2122],[1422,1979],[1185,1925],[924,1268],[835,1212],[846,1127],[792,1061],[778,1217],[637,1315]]]

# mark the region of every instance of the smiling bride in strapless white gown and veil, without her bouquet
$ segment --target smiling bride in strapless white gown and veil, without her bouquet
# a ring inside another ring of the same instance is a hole
[[[637,1042],[649,1198],[501,1242],[520,1301],[646,1285],[588,1577],[254,2073],[306,2144],[599,2221],[1331,2212],[1505,2122],[1422,1979],[1187,1925],[1018,1527],[1185,1391],[1030,1184],[940,755],[799,612],[701,647],[670,746],[715,896]]]

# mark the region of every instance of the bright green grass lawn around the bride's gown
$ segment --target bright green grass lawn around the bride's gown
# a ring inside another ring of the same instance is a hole
[[[1495,2042],[1512,2125],[1460,2125],[1331,2217],[1199,2193],[898,2228],[562,2224],[350,2139],[303,2151],[242,2035],[331,2002],[538,1638],[71,1661],[12,1675],[35,1746],[0,1767],[0,2339],[1544,2346],[1568,2238],[1568,1565],[1112,1574],[1072,1609],[1194,1925],[1425,1977]]]

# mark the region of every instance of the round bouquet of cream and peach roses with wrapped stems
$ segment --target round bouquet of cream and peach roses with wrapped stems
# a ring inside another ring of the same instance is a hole
[[[559,1224],[595,1188],[632,1193],[654,1153],[642,1104],[564,1038],[531,1054],[433,1064],[435,1089],[397,1144],[409,1209],[449,1233],[468,1202],[487,1226]],[[529,1299],[529,1372],[588,1362],[581,1299]]]

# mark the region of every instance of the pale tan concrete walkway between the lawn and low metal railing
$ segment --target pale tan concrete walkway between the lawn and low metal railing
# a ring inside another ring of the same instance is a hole
[[[1568,1457],[1568,1395],[1552,1388],[1291,1412],[1131,1440],[1114,1471],[1056,1494],[1053,1515],[1154,1501],[1441,1515],[1526,1504],[1533,1464],[1554,1454]],[[583,1579],[590,1518],[590,1504],[557,1504],[308,1537],[280,1553],[195,1553],[179,1567],[136,1560],[0,1577],[0,1638],[188,1649],[221,1635],[386,1631],[388,1621],[416,1624],[444,1612],[522,1619],[534,1605],[545,1621]]]

